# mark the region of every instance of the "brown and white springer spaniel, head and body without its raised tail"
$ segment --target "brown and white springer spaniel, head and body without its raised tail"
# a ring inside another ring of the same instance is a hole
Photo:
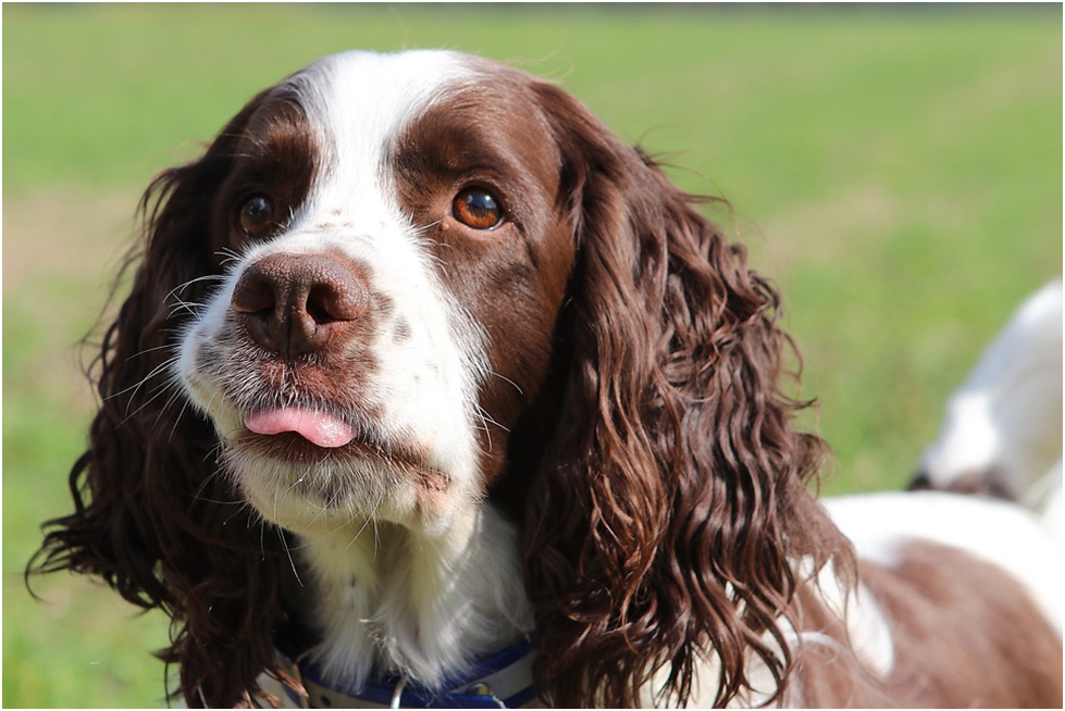
[[[146,192],[32,570],[165,610],[194,707],[1060,708],[1043,523],[813,497],[698,202],[488,60],[297,72]]]

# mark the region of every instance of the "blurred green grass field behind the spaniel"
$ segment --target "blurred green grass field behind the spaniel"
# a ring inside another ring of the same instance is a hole
[[[1062,271],[1061,3],[936,12],[311,3],[3,5],[3,707],[163,703],[165,620],[22,570],[71,509],[95,323],[150,177],[348,48],[555,77],[732,201],[787,299],[827,491],[901,486],[949,392]]]

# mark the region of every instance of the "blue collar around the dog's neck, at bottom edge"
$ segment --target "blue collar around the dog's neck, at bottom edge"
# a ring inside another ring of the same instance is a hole
[[[439,687],[408,683],[399,675],[369,682],[361,689],[322,679],[317,666],[304,660],[295,668],[307,689],[310,708],[330,709],[517,709],[536,697],[532,662],[536,645],[527,637],[497,654],[476,662]]]

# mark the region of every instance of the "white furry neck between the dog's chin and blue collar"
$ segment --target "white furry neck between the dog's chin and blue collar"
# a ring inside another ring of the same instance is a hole
[[[492,507],[434,536],[369,522],[299,542],[321,640],[310,660],[327,682],[441,687],[532,631],[517,527]]]

